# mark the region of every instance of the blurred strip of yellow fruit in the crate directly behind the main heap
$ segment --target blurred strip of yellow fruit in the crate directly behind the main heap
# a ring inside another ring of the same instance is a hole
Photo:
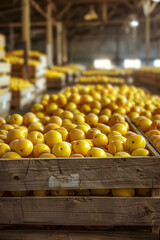
[[[81,76],[78,78],[80,83],[124,83],[122,78],[107,77],[104,75]]]

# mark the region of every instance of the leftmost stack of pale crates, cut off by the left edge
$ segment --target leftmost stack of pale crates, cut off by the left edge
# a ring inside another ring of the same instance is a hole
[[[7,116],[11,106],[10,72],[11,65],[3,62],[5,57],[5,36],[0,34],[0,116]]]

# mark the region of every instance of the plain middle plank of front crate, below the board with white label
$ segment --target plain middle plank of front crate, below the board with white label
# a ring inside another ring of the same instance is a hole
[[[0,198],[0,224],[160,226],[157,197]]]

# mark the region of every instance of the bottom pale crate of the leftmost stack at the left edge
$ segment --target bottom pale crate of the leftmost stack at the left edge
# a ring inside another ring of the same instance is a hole
[[[0,116],[6,117],[11,108],[11,92],[0,95]]]

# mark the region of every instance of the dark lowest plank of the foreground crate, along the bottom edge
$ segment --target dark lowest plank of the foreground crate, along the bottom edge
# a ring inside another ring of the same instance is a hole
[[[0,240],[158,240],[145,232],[1,231]]]

